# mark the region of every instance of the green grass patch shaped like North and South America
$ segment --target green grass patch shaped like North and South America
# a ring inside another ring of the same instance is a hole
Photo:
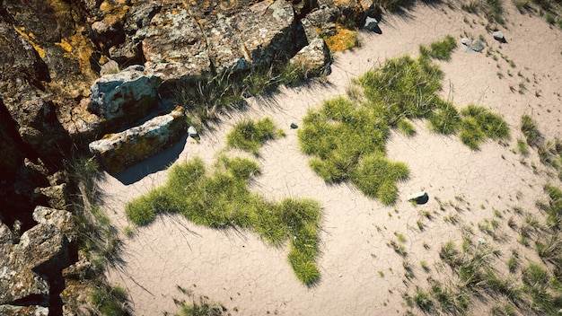
[[[290,241],[288,260],[294,273],[305,285],[313,285],[320,279],[315,262],[320,251],[320,204],[311,199],[274,203],[261,198],[248,188],[257,174],[258,163],[240,157],[221,156],[211,170],[198,158],[173,165],[166,184],[127,203],[127,218],[145,225],[158,214],[180,213],[195,224],[251,230],[273,246]]]

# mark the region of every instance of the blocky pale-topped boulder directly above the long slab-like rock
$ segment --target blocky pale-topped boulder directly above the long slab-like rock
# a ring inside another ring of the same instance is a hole
[[[88,109],[108,125],[145,116],[158,101],[162,79],[144,66],[129,66],[119,74],[104,75],[92,84]]]

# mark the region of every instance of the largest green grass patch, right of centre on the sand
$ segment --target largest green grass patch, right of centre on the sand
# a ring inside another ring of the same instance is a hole
[[[452,37],[432,43],[427,56],[445,57],[454,45]],[[408,179],[408,166],[386,158],[391,128],[411,136],[415,130],[409,120],[426,118],[437,133],[460,131],[461,141],[475,150],[487,138],[509,137],[498,115],[477,105],[459,113],[452,102],[443,101],[438,95],[442,79],[439,66],[423,54],[392,58],[355,79],[348,97],[309,110],[298,137],[303,153],[311,156],[312,170],[328,183],[350,181],[365,196],[392,205],[397,183]]]

